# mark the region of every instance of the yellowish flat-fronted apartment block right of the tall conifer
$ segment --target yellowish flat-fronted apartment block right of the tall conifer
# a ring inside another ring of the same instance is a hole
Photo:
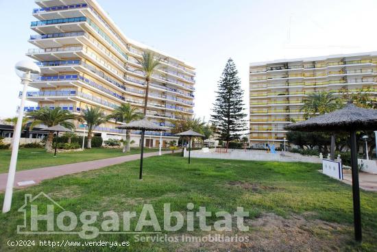
[[[304,120],[303,99],[321,90],[377,97],[377,52],[250,64],[250,142],[282,142],[284,126]]]

